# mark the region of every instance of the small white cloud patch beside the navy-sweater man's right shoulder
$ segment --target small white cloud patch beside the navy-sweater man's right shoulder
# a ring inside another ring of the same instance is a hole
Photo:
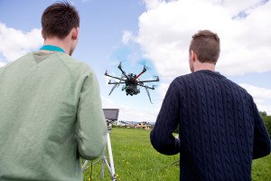
[[[271,90],[249,85],[247,83],[240,83],[239,85],[248,90],[248,93],[253,97],[257,104],[258,110],[266,111],[268,115],[271,115]]]

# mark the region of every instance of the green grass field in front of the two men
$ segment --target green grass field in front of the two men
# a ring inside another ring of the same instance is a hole
[[[154,150],[149,139],[150,131],[114,128],[110,134],[117,180],[123,181],[174,181],[179,180],[179,155],[164,156]],[[90,179],[90,162],[84,181]],[[92,166],[91,180],[101,179],[101,161]],[[271,156],[253,161],[252,178],[271,181]],[[107,167],[104,180],[111,180]]]

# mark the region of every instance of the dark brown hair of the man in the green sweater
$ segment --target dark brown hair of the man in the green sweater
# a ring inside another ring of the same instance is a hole
[[[57,36],[65,38],[72,28],[79,27],[79,14],[68,2],[57,2],[48,6],[42,14],[43,38]]]

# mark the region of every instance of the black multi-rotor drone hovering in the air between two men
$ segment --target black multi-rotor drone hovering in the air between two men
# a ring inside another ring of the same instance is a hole
[[[140,88],[139,87],[144,87],[146,92],[147,92],[147,95],[149,97],[150,102],[153,103],[152,100],[151,100],[149,90],[154,90],[154,85],[152,87],[149,87],[149,86],[145,85],[144,83],[145,82],[160,81],[158,76],[155,76],[155,78],[156,78],[155,80],[140,81],[139,77],[143,73],[145,73],[145,71],[147,70],[145,65],[144,65],[143,71],[141,71],[138,75],[135,75],[134,73],[126,74],[126,71],[123,71],[123,69],[121,67],[121,62],[118,64],[117,68],[122,73],[120,78],[109,75],[107,73],[107,71],[105,73],[105,76],[110,77],[110,78],[114,78],[114,79],[117,80],[115,82],[111,82],[111,80],[108,82],[108,84],[113,84],[114,85],[112,90],[109,92],[108,96],[110,96],[112,91],[115,90],[115,88],[118,87],[120,84],[124,84],[124,86],[122,87],[122,90],[126,90],[126,96],[128,96],[128,95],[130,95],[130,96],[136,95],[136,94],[140,93]]]

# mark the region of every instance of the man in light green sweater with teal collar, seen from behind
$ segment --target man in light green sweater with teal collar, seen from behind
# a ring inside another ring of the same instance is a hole
[[[79,14],[64,2],[42,14],[44,46],[0,69],[0,180],[82,180],[79,157],[106,145],[98,81],[71,58]]]

